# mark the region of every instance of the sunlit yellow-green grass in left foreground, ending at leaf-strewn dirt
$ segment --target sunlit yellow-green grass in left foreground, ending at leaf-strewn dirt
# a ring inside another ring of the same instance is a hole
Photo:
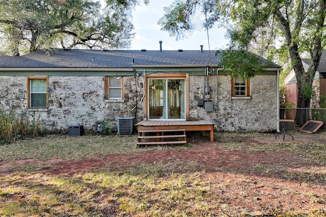
[[[161,165],[162,166],[162,165]],[[19,173],[2,177],[0,215],[4,216],[203,216],[209,192],[201,173],[172,174],[165,178],[143,173],[96,171],[74,177]]]

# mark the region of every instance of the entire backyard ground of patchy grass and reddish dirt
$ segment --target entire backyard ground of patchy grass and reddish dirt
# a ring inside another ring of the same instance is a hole
[[[326,216],[326,133],[48,135],[0,145],[0,216]],[[271,139],[270,139],[271,138]],[[324,142],[323,142],[324,141]]]

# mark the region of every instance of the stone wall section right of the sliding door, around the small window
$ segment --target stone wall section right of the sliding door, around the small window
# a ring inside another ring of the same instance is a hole
[[[255,76],[250,80],[250,99],[231,97],[230,76],[209,76],[210,99],[214,111],[197,106],[204,96],[203,76],[190,76],[190,118],[215,123],[215,129],[228,132],[268,131],[277,127],[277,76]],[[215,85],[214,85],[215,84]],[[218,86],[218,92],[213,87]],[[216,103],[218,102],[218,103]]]

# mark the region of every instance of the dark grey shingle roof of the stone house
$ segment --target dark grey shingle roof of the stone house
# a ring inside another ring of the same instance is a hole
[[[270,68],[281,68],[262,57]],[[132,63],[133,59],[133,63]],[[63,50],[46,54],[35,51],[23,56],[0,56],[0,68],[132,68],[133,66],[210,66],[221,56],[204,50]]]

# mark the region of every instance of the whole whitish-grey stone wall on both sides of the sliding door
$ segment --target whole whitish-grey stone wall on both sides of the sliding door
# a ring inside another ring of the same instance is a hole
[[[143,120],[144,77],[124,77],[124,100],[104,99],[104,76],[49,76],[48,108],[28,109],[26,76],[1,76],[0,109],[6,112],[31,112],[40,115],[48,130],[68,129],[70,125],[84,125],[96,129],[96,124],[108,121],[117,128],[118,117],[135,116]],[[209,76],[210,99],[214,111],[205,112],[197,106],[204,96],[204,76],[189,76],[189,118],[215,123],[218,131],[247,132],[276,129],[277,76],[255,76],[250,81],[251,99],[231,98],[231,78]],[[215,87],[215,88],[214,88]],[[218,88],[216,88],[218,87]],[[218,91],[216,91],[216,89]],[[218,102],[218,103],[216,103]],[[135,106],[139,104],[137,109]]]

